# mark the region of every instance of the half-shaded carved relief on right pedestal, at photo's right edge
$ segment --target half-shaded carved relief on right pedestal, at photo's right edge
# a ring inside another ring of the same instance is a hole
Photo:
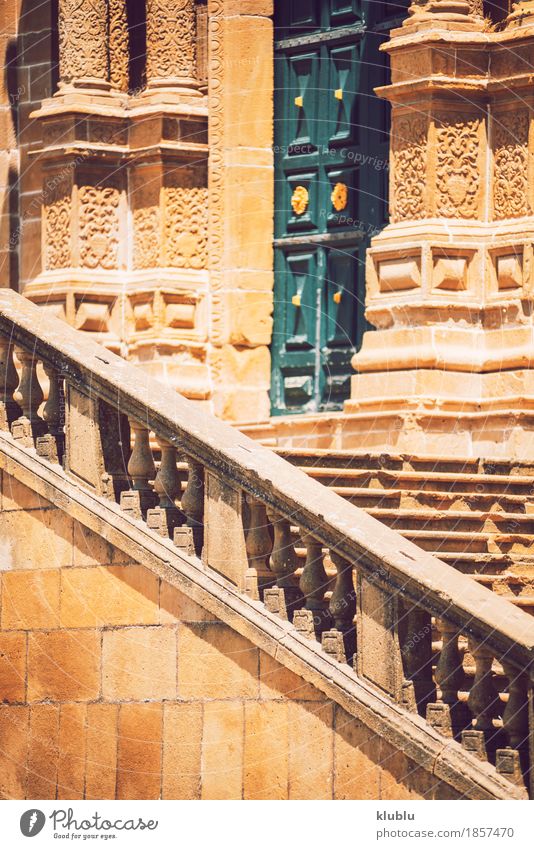
[[[503,112],[493,122],[493,209],[495,218],[529,215],[527,109]]]

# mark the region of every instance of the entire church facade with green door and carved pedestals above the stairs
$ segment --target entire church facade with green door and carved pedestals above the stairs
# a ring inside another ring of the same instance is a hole
[[[526,0],[2,5],[4,285],[271,443],[527,456]]]

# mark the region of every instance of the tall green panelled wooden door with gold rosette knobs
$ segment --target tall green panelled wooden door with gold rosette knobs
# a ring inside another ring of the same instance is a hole
[[[402,0],[401,0],[402,3]],[[275,16],[274,415],[340,409],[365,329],[365,249],[385,224],[387,81],[402,3],[281,0]]]

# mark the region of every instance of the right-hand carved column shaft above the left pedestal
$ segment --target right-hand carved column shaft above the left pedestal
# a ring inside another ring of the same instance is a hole
[[[147,0],[147,94],[199,97],[194,0]]]

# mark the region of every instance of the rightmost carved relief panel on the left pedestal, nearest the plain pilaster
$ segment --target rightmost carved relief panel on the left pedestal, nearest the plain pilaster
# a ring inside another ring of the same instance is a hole
[[[163,190],[165,264],[206,268],[208,190],[166,186]]]

